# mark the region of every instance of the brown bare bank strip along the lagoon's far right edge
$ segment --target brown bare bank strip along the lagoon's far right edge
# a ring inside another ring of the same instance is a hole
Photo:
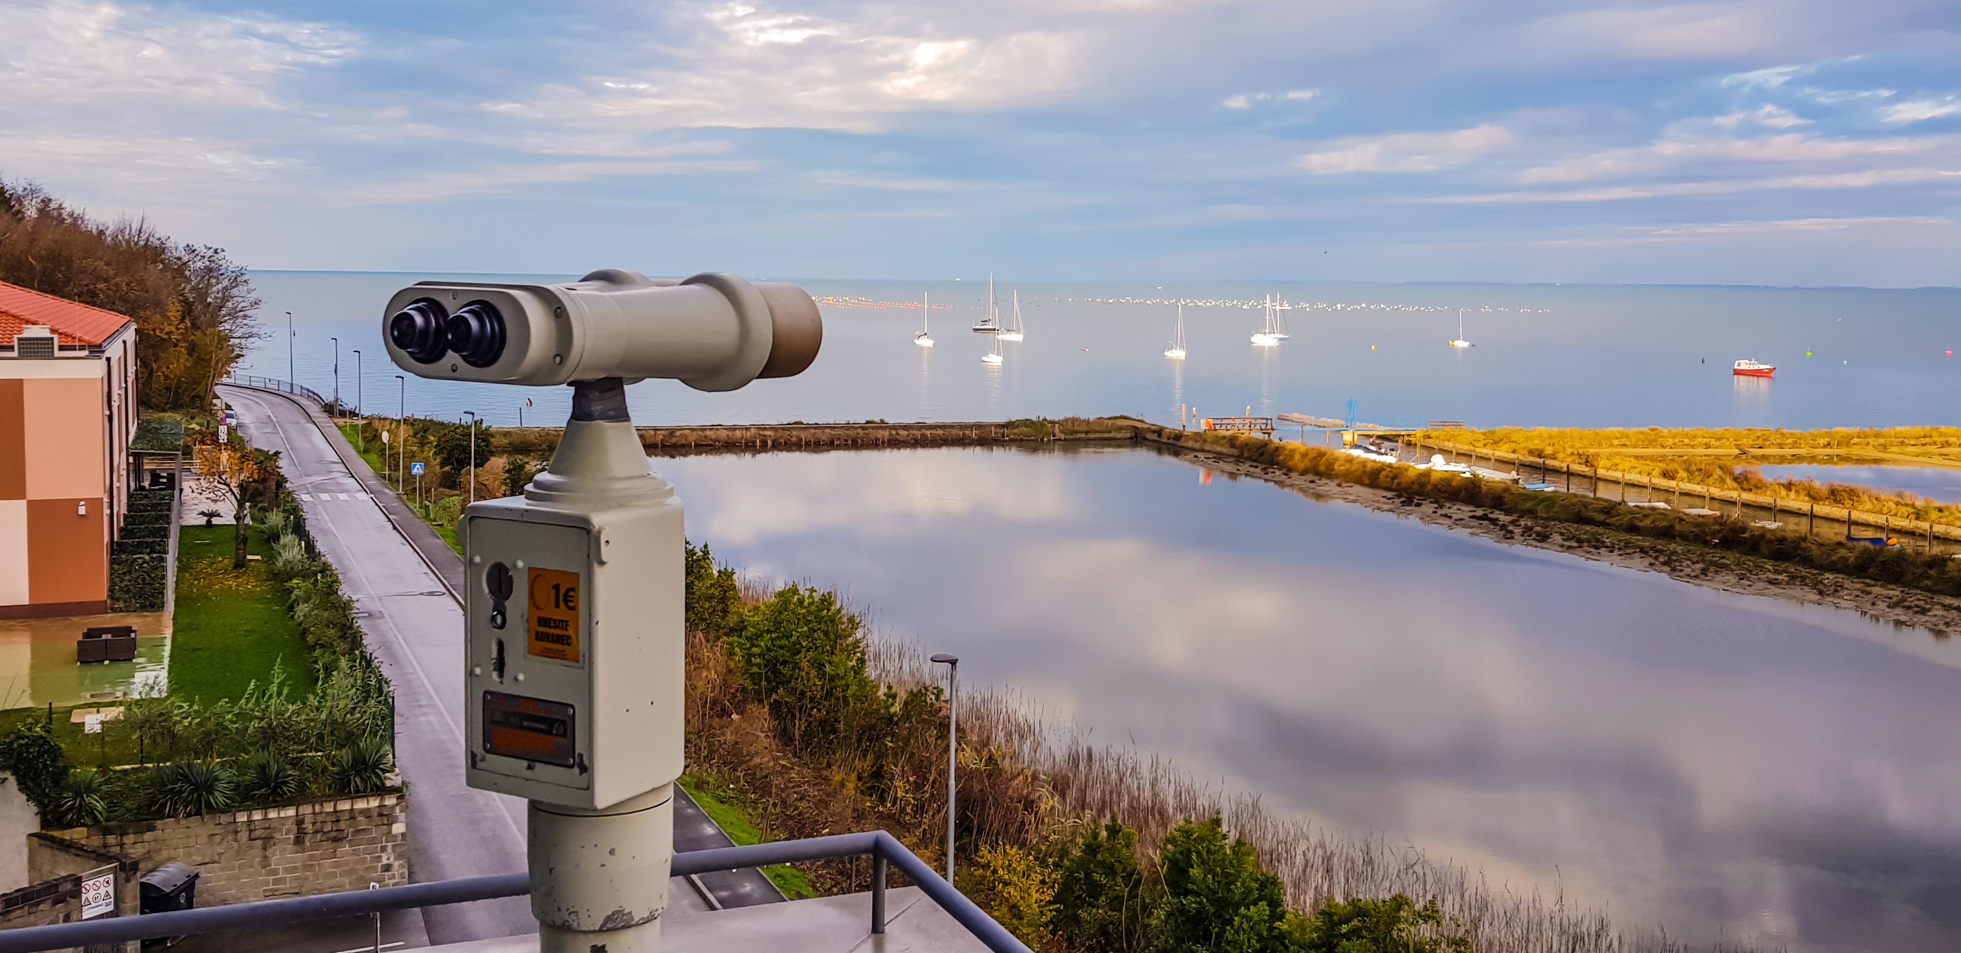
[[[1477,533],[1512,545],[1530,545],[1555,553],[1571,553],[1616,567],[1665,573],[1724,592],[1771,596],[1814,606],[1834,606],[1863,612],[1871,618],[1920,626],[1949,633],[1961,631],[1961,600],[1912,588],[1869,582],[1863,578],[1820,573],[1771,559],[1724,553],[1673,539],[1649,539],[1594,526],[1561,524],[1535,516],[1514,516],[1481,506],[1437,500],[1418,500],[1390,490],[1353,482],[1306,476],[1263,463],[1222,457],[1218,453],[1173,449],[1214,473],[1249,476],[1286,486],[1314,500],[1337,500],[1386,514],[1408,516],[1430,526]]]

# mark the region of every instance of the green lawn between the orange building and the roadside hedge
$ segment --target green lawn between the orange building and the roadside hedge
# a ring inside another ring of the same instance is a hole
[[[275,661],[284,663],[294,694],[310,692],[312,653],[286,616],[265,535],[249,533],[247,553],[261,559],[235,571],[229,526],[184,526],[178,533],[171,694],[204,702],[237,698],[251,682],[263,682]]]

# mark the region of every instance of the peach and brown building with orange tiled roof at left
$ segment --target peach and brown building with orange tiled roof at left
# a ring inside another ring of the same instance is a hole
[[[135,322],[0,282],[0,620],[108,610],[135,427]]]

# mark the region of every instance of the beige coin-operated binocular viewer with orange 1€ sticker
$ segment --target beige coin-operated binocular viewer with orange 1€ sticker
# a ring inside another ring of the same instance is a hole
[[[573,386],[551,465],[463,514],[467,780],[529,802],[543,953],[651,953],[682,771],[682,510],[628,420],[649,376],[792,376],[824,324],[733,275],[422,282],[388,300],[394,363],[435,380]]]

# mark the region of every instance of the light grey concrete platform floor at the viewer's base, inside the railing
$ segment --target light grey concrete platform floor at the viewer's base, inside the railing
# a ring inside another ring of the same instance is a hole
[[[884,933],[871,935],[871,894],[820,896],[661,918],[663,953],[986,953],[918,886],[886,890]],[[441,953],[537,953],[537,935],[431,947]]]

